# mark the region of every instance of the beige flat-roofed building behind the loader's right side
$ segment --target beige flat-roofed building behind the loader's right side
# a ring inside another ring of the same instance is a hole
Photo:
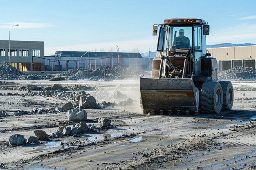
[[[256,46],[235,46],[207,49],[218,62],[218,71],[236,66],[256,68]]]

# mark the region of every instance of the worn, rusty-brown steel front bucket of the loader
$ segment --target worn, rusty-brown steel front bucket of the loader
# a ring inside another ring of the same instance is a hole
[[[190,78],[141,78],[141,105],[144,114],[198,114],[199,91]]]

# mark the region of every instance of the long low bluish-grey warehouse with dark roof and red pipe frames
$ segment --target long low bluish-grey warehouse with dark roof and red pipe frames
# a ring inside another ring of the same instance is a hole
[[[122,66],[151,70],[153,58],[143,58],[140,53],[56,51],[45,56],[45,70],[67,71],[72,68],[96,69],[100,66]]]

